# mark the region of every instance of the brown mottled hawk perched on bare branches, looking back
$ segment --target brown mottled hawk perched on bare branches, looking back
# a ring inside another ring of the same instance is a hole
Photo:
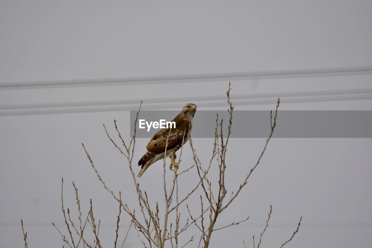
[[[174,159],[176,159],[175,153],[188,140],[188,134],[189,131],[191,131],[192,118],[194,117],[195,111],[195,104],[186,104],[176,118],[172,120],[176,123],[175,128],[171,128],[170,131],[169,128],[163,128],[154,135],[146,146],[147,152],[142,156],[140,161],[138,161],[138,166],[141,166],[141,171],[138,173],[137,177],[141,177],[148,166],[164,158],[166,146],[166,157],[170,157],[171,159],[169,168],[172,169],[172,166],[178,168],[178,163],[174,162]],[[182,140],[184,141],[183,144]]]

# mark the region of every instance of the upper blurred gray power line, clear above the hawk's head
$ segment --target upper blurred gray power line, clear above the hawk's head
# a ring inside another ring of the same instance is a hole
[[[187,74],[149,77],[122,77],[114,79],[86,79],[86,80],[54,80],[34,82],[3,82],[0,90],[7,89],[33,89],[33,88],[65,88],[86,86],[113,86],[133,84],[160,84],[160,83],[184,83],[184,82],[212,82],[220,80],[243,80],[243,79],[278,79],[292,77],[324,77],[324,76],[349,76],[349,75],[372,74],[372,67],[340,67],[325,69],[304,70],[277,70],[256,72],[233,72],[233,73],[209,73]]]

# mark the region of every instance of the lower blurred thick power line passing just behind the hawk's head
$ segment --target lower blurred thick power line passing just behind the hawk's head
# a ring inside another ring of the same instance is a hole
[[[282,102],[285,103],[363,100],[372,99],[372,88],[235,95],[231,97],[231,100],[235,106],[244,106],[275,104],[278,97],[280,97]],[[0,116],[128,111],[136,110],[140,104],[140,101],[140,99],[131,99],[1,105]],[[189,101],[196,103],[200,107],[226,106],[226,98],[222,95],[190,96],[166,99],[147,99],[142,105],[142,109],[172,109],[173,106],[182,105]]]

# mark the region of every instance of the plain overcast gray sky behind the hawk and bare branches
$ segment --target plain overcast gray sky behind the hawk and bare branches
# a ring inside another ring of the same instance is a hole
[[[198,110],[226,109],[231,81],[237,110],[269,111],[278,97],[283,110],[372,110],[371,7],[371,1],[0,1],[0,248],[23,245],[20,218],[30,247],[62,245],[51,225],[63,226],[61,177],[65,207],[76,217],[74,181],[83,214],[92,198],[102,243],[113,244],[118,206],[81,142],[109,187],[137,207],[125,160],[102,123],[115,136],[116,118],[128,139],[129,110],[141,100],[143,109],[180,110],[191,100]],[[147,142],[137,140],[135,161]],[[231,140],[229,192],[264,142]],[[212,143],[194,140],[202,163]],[[273,139],[217,225],[250,219],[215,232],[212,247],[250,244],[270,204],[263,247],[280,247],[300,216],[288,248],[370,247],[371,145],[371,139]],[[190,153],[187,146],[180,166],[192,165]],[[147,172],[141,187],[151,203],[163,204],[161,162]],[[180,180],[180,194],[196,177],[190,171]],[[194,213],[199,194],[188,203]],[[127,225],[123,214],[119,238]],[[182,242],[193,233],[199,235],[192,228]],[[134,230],[126,247],[140,247]]]

